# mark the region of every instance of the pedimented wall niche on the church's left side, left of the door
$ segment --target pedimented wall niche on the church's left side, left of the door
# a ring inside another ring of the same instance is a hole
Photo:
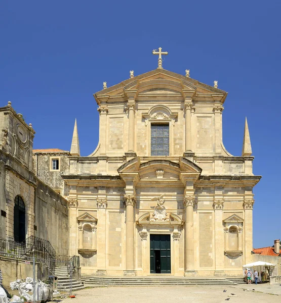
[[[91,258],[97,250],[97,219],[89,213],[77,217],[78,254]]]

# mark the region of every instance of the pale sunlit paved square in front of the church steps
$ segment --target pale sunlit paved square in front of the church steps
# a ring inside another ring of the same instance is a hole
[[[238,285],[238,286],[117,286],[117,287],[98,287],[76,291],[76,298],[63,299],[63,303],[170,303],[170,302],[188,302],[188,303],[249,303],[249,302],[270,302],[280,303],[280,295],[272,295],[259,291],[268,291],[281,294],[281,286],[270,285]],[[260,289],[259,289],[259,286]],[[251,290],[244,290],[249,288]],[[253,291],[252,289],[255,289]],[[223,290],[226,289],[226,292]],[[235,294],[235,296],[231,295]],[[228,299],[229,300],[226,300]]]

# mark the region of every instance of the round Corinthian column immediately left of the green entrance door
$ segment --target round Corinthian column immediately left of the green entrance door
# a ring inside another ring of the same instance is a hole
[[[126,270],[124,276],[136,276],[135,271],[135,214],[136,195],[125,194],[126,205]]]

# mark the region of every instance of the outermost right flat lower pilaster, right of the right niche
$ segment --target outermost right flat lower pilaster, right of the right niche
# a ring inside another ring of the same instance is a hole
[[[253,250],[253,206],[254,199],[245,199],[243,208],[245,212],[244,218],[244,235],[245,235],[245,264],[252,262],[252,250]]]

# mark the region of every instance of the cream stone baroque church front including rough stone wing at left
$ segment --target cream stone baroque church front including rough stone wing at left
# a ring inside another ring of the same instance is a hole
[[[247,121],[242,156],[232,156],[222,142],[227,93],[160,59],[94,94],[99,143],[90,156],[80,155],[75,121],[70,153],[34,151],[36,175],[68,199],[69,254],[84,274],[240,275],[252,261],[261,178]]]

